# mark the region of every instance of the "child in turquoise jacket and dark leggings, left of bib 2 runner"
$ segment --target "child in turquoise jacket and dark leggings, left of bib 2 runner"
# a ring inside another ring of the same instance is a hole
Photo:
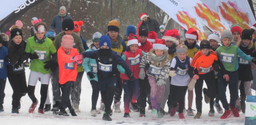
[[[96,32],[93,34],[93,44],[91,44],[90,49],[87,49],[86,52],[99,50],[99,38],[102,36],[101,33]],[[93,93],[92,93],[92,109],[91,116],[96,117],[97,114],[100,114],[96,110],[97,101],[99,98],[99,87],[98,87],[98,76],[97,76],[97,63],[95,59],[84,58],[83,63],[84,71],[87,72],[87,78],[90,80]],[[105,106],[104,106],[105,107]]]

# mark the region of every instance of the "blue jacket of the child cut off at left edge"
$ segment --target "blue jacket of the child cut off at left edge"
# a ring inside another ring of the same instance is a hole
[[[5,46],[2,46],[0,49],[0,79],[6,79],[7,78],[7,64],[9,63],[5,62],[5,57],[8,57],[8,49]]]

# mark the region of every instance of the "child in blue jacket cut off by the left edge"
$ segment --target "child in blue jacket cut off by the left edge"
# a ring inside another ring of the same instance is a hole
[[[3,38],[0,35],[0,112],[4,112],[5,84],[7,78],[8,49],[3,46]]]

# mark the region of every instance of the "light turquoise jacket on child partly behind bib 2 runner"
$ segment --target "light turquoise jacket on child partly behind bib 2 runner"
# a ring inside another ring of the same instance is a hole
[[[85,52],[89,52],[89,51],[94,51],[92,48],[90,49],[87,49]],[[84,67],[84,71],[87,73],[87,72],[92,72],[93,75],[95,76],[95,78],[90,78],[88,75],[87,75],[87,78],[88,80],[95,80],[98,82],[98,76],[97,76],[97,71],[95,72],[95,70],[93,71],[92,68],[95,69],[95,67],[93,67],[92,65],[95,65],[96,68],[97,68],[97,63],[96,63],[96,60],[95,59],[91,59],[91,58],[84,58],[84,62],[83,62],[83,67]]]

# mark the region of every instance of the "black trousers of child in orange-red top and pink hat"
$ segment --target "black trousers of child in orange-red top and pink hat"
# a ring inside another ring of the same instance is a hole
[[[59,87],[62,92],[61,94],[62,108],[68,107],[69,109],[72,109],[71,100],[70,100],[70,91],[71,91],[72,84],[74,84],[74,81],[68,81],[65,84],[59,84]]]

